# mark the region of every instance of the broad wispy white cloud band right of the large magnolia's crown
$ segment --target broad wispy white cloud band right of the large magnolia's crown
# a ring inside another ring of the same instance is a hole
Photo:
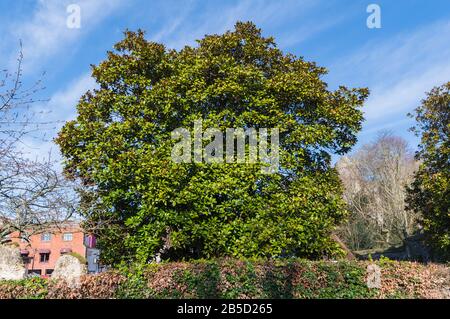
[[[330,69],[332,82],[368,86],[365,127],[395,124],[434,86],[450,80],[450,22],[441,21],[387,40],[370,41]]]

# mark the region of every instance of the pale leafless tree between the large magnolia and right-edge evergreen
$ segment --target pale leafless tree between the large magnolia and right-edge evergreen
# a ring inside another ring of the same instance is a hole
[[[404,139],[382,132],[336,166],[351,212],[339,235],[351,249],[398,246],[417,230],[419,214],[405,209],[405,187],[418,165]]]

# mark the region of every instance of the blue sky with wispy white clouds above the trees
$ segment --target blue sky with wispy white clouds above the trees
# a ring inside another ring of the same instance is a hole
[[[81,27],[66,25],[69,4],[81,8]],[[381,8],[381,28],[369,29],[369,4]],[[25,83],[43,80],[34,105],[39,120],[65,121],[95,86],[90,64],[97,64],[126,28],[141,28],[150,40],[180,49],[204,34],[222,33],[238,20],[255,22],[285,52],[328,68],[330,88],[369,87],[366,121],[359,145],[380,130],[391,130],[414,148],[408,132],[412,111],[433,86],[450,81],[450,1],[296,0],[296,1],[0,1],[1,69],[11,68],[23,43]],[[61,124],[48,130],[49,139]],[[51,141],[27,141],[30,156],[57,153]]]

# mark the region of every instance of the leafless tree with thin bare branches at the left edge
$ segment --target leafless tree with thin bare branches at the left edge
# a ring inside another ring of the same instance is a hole
[[[71,185],[46,160],[31,160],[24,153],[26,137],[51,123],[33,121],[31,105],[42,90],[41,81],[25,88],[20,50],[14,72],[3,70],[0,79],[0,243],[18,232],[27,239],[48,227],[58,227],[73,216]]]

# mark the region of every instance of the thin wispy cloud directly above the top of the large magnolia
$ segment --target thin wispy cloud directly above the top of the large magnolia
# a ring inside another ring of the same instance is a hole
[[[253,21],[264,30],[277,29],[277,42],[281,47],[288,47],[330,28],[340,19],[309,19],[308,13],[322,3],[322,1],[265,1],[249,0],[234,4],[227,2],[208,7],[193,14],[198,6],[196,2],[187,2],[183,7],[176,8],[167,16],[167,22],[154,34],[150,34],[153,41],[164,42],[168,47],[181,49],[185,45],[193,45],[196,39],[205,34],[222,33],[233,28],[236,21]],[[288,22],[303,19],[303,26],[297,29],[283,28]]]

